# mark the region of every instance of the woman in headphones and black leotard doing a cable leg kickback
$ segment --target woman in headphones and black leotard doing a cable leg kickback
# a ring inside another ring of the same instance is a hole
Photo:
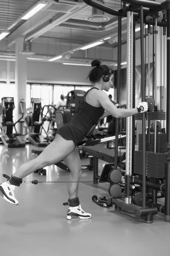
[[[90,213],[82,210],[79,204],[80,200],[77,197],[79,179],[82,172],[77,145],[99,119],[109,114],[116,118],[122,118],[135,115],[138,112],[147,111],[146,102],[142,102],[138,108],[116,108],[107,94],[103,92],[103,90],[108,91],[111,85],[113,85],[113,70],[105,65],[101,65],[98,60],[92,61],[91,65],[94,68],[89,73],[88,78],[93,84],[93,87],[82,97],[71,121],[59,128],[54,140],[36,159],[24,163],[12,177],[9,176],[7,182],[0,184],[0,196],[6,201],[17,205],[18,201],[14,196],[14,189],[15,186],[20,186],[24,177],[30,175],[37,169],[64,160],[71,171],[69,176],[70,182],[68,183],[69,199],[66,203],[69,205],[67,219],[91,218]]]

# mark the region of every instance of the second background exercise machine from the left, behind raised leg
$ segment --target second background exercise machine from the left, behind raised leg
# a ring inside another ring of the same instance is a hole
[[[26,116],[26,125],[28,127],[28,140],[31,144],[37,147],[46,147],[50,142],[47,132],[42,126],[43,121],[41,120],[41,99],[31,98],[32,111]],[[47,137],[42,136],[42,129],[44,130]]]

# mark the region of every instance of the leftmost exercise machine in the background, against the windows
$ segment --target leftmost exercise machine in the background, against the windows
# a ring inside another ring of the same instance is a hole
[[[13,110],[15,108],[13,97],[3,97],[3,114],[0,116],[0,128],[2,131],[1,140],[7,148],[23,148],[26,143],[20,138],[22,134],[17,133],[15,125],[23,118],[22,112],[21,118],[17,122],[13,122]],[[20,102],[20,109],[22,109],[22,103]],[[15,133],[13,133],[13,128]]]

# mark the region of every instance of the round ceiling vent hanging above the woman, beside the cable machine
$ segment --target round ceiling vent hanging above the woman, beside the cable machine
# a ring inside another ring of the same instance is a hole
[[[104,4],[103,0],[97,1]],[[105,12],[92,7],[92,15],[87,17],[86,19],[91,22],[106,22],[109,20],[109,17],[105,15]]]

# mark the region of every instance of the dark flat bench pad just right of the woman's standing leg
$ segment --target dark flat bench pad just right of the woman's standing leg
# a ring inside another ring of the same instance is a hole
[[[113,149],[104,148],[103,145],[97,144],[94,146],[82,146],[82,151],[89,153],[91,156],[104,160],[108,163],[114,163]],[[118,160],[122,158],[123,152],[118,152]]]

